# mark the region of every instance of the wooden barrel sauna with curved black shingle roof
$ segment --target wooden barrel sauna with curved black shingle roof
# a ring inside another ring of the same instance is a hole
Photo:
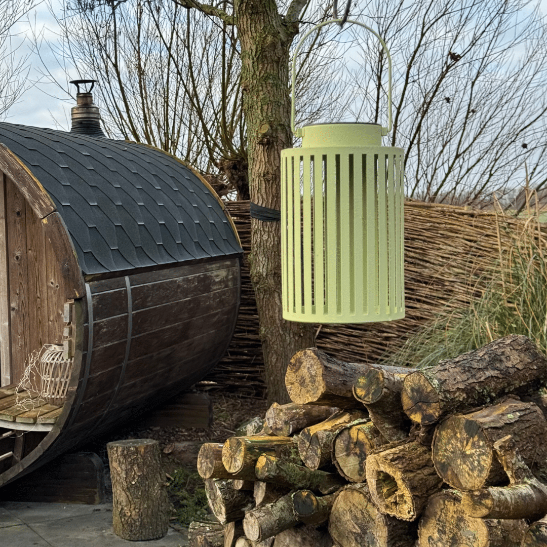
[[[242,249],[210,185],[161,150],[8,123],[0,143],[1,486],[205,376]],[[49,344],[63,397],[30,366]]]

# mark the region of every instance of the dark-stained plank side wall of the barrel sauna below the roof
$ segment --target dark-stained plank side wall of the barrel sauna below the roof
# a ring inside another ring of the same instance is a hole
[[[228,347],[240,297],[237,258],[127,279],[131,317],[125,277],[89,283],[93,347],[82,402],[69,427],[74,432],[83,423],[106,426],[131,416],[139,405],[146,408],[167,392],[190,387]],[[84,351],[82,368],[87,359]],[[77,391],[83,384],[82,378]]]

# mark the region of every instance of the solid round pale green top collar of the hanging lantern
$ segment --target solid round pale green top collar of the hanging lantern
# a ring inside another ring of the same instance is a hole
[[[382,126],[338,122],[302,127],[302,148],[382,146]]]

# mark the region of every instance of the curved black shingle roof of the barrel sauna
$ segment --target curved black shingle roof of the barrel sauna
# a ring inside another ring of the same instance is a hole
[[[241,253],[216,196],[142,144],[0,123],[65,221],[84,274]]]

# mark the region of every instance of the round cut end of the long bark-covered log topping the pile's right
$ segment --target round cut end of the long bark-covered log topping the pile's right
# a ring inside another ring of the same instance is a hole
[[[435,423],[443,410],[437,390],[419,371],[406,376],[401,403],[405,414],[422,426]]]

